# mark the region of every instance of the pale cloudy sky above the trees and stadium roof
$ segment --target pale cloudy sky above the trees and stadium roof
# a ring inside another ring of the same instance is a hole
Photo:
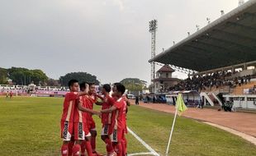
[[[158,54],[235,7],[238,0],[0,0],[0,67],[149,82],[149,21],[158,20]]]

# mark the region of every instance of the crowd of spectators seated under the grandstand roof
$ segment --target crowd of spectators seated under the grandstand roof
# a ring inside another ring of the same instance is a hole
[[[233,73],[235,74],[235,73]],[[174,85],[170,88],[171,91],[177,90],[197,90],[201,91],[206,88],[216,86],[230,86],[235,87],[237,85],[244,85],[250,82],[254,76],[242,76],[234,77],[231,72],[215,72],[211,75],[206,76],[189,76],[186,80],[182,80],[178,85]]]

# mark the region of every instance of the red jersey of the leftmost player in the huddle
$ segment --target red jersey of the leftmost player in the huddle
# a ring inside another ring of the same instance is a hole
[[[78,92],[69,92],[65,94],[61,121],[73,122],[73,112],[78,98]]]

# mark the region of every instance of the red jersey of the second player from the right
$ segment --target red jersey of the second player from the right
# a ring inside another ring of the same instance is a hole
[[[109,94],[104,97],[102,103],[102,110],[111,108],[111,106],[115,103],[115,99],[113,99]],[[102,113],[102,124],[111,124],[111,113]]]

